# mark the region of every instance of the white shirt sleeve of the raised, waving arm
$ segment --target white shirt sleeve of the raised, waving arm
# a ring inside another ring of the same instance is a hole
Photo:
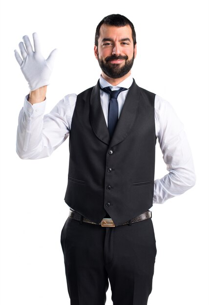
[[[44,115],[46,100],[33,104],[25,96],[18,119],[16,151],[21,159],[50,156],[68,137],[77,95],[65,95]]]

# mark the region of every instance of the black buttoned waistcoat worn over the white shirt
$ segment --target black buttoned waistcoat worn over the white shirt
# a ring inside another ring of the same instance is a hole
[[[93,222],[106,212],[116,226],[152,206],[155,94],[135,81],[110,139],[99,81],[77,96],[69,137],[65,202]]]

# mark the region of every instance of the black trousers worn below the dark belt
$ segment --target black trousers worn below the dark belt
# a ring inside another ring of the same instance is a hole
[[[61,245],[71,305],[104,305],[109,283],[113,305],[147,304],[157,252],[151,218],[105,228],[68,217]]]

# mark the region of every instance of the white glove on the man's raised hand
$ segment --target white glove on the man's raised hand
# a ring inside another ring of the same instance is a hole
[[[25,35],[22,39],[24,43],[22,41],[19,43],[22,58],[17,50],[15,50],[15,57],[21,66],[30,90],[33,91],[49,84],[57,49],[54,49],[45,60],[41,53],[37,33],[33,33],[34,51],[28,36]]]

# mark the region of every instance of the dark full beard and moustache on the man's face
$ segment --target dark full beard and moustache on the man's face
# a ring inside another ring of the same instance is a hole
[[[110,63],[110,60],[115,60],[115,59],[125,59],[125,64],[117,64],[117,63]],[[104,72],[106,76],[109,76],[111,78],[120,78],[125,76],[132,68],[133,62],[134,62],[134,54],[131,59],[128,60],[128,57],[119,55],[119,56],[108,56],[105,58],[105,62],[99,58],[98,54],[98,62],[100,65],[100,68]]]

